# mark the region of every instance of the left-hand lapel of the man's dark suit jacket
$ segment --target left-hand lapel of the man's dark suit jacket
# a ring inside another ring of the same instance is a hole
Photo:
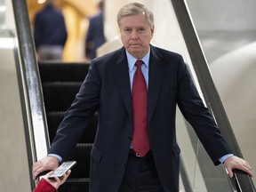
[[[114,58],[112,72],[118,92],[124,102],[124,107],[126,108],[129,116],[132,116],[131,85],[124,47],[116,54],[116,58]]]

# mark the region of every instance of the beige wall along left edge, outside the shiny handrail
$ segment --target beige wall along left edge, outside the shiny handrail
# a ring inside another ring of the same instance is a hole
[[[15,29],[12,1],[6,1],[5,29]],[[1,31],[0,36],[0,191],[31,191],[25,127],[14,60],[14,38]]]

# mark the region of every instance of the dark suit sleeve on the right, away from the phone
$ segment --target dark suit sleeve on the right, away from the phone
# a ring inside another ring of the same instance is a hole
[[[228,148],[227,142],[222,138],[220,129],[209,109],[204,106],[182,58],[180,58],[178,71],[178,105],[180,111],[194,128],[206,152],[212,158],[212,162],[220,164],[218,159],[232,152]]]

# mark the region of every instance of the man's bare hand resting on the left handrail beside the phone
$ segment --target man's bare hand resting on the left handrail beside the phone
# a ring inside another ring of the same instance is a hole
[[[41,160],[33,164],[33,180],[36,180],[36,177],[41,172],[56,170],[59,166],[59,160],[55,156],[45,156]]]

